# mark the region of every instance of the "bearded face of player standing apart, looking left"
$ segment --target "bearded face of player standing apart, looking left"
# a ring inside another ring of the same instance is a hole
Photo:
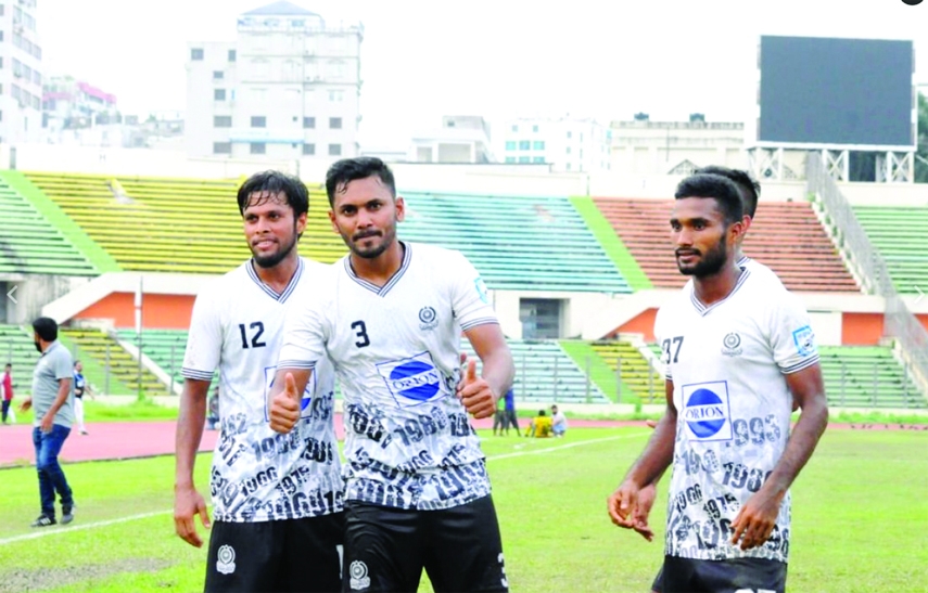
[[[725,223],[715,199],[676,199],[671,215],[671,237],[681,273],[696,278],[719,273],[741,231],[741,222]]]

